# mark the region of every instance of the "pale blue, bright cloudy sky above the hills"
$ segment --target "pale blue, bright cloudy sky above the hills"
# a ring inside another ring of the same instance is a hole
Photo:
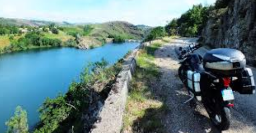
[[[193,5],[216,0],[0,0],[0,17],[102,23],[113,20],[135,25],[164,26]]]

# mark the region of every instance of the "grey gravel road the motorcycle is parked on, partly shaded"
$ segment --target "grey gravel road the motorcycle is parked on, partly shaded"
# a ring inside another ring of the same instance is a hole
[[[170,108],[163,123],[168,133],[220,133],[210,122],[202,104],[191,106],[184,104],[189,97],[178,78],[179,60],[175,48],[196,39],[178,39],[162,46],[155,52],[155,64],[162,74],[159,91],[163,93],[165,103]],[[203,54],[201,49],[197,52]],[[255,71],[256,72],[256,71]],[[232,109],[232,122],[229,131],[223,133],[256,133],[256,97],[236,95],[235,109]]]

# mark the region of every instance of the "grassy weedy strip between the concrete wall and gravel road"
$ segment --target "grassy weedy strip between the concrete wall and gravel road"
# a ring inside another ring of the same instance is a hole
[[[129,89],[123,120],[125,133],[166,133],[162,118],[168,111],[164,97],[159,97],[153,82],[159,82],[160,70],[154,64],[154,53],[162,43],[141,50],[138,66]]]

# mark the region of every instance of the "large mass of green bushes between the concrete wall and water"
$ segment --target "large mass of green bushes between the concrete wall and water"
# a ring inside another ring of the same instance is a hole
[[[82,130],[76,126],[83,125],[83,113],[99,99],[102,89],[121,70],[118,65],[107,66],[104,59],[88,65],[80,75],[80,82],[71,83],[65,95],[47,98],[39,109],[41,121],[34,133],[64,133],[72,126]]]

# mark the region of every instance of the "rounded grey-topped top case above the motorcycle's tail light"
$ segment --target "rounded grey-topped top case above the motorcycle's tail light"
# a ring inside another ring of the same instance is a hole
[[[240,73],[246,66],[245,56],[241,51],[219,48],[208,51],[203,56],[206,71],[220,76],[232,76]]]

